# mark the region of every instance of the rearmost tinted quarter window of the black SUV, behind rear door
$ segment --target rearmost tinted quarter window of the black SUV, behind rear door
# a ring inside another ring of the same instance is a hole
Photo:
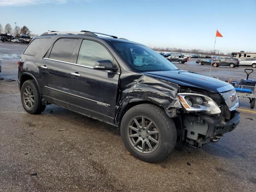
[[[38,52],[51,40],[51,38],[37,38],[34,39],[26,48],[24,54],[36,56]]]

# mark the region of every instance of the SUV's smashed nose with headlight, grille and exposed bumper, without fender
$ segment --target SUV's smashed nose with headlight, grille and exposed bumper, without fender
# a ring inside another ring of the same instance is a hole
[[[190,103],[188,99],[191,95],[194,96],[194,100],[200,100],[199,104]],[[240,122],[240,114],[235,110],[239,106],[236,95],[232,100],[232,106],[229,106],[230,96],[225,98],[222,93],[198,94],[194,91],[180,93],[179,98],[185,109],[181,114],[185,129],[184,140],[191,146],[202,147],[209,142],[218,142],[224,133],[234,130]]]

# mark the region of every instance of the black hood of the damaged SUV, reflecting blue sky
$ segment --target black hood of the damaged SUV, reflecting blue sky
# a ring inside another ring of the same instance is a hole
[[[220,87],[230,85],[216,78],[183,70],[143,72],[143,74],[173,82],[180,86],[204,89],[212,93],[218,93]]]

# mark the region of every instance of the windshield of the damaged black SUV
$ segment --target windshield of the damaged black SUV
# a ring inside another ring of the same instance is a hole
[[[139,72],[178,70],[174,64],[146,46],[122,42],[112,42],[112,45]]]

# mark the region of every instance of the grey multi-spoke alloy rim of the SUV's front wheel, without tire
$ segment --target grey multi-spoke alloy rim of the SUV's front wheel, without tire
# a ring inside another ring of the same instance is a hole
[[[137,116],[130,121],[127,136],[130,144],[144,154],[154,152],[160,143],[156,124],[145,116]]]

